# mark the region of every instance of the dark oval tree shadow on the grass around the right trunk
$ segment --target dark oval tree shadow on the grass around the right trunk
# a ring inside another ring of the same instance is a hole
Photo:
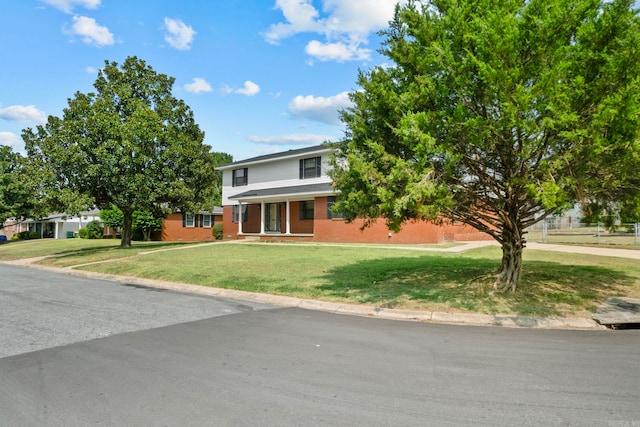
[[[498,267],[494,259],[459,256],[367,260],[329,270],[329,283],[317,289],[325,297],[385,308],[566,316],[625,295],[637,280],[610,268],[526,261],[516,292],[494,294]]]

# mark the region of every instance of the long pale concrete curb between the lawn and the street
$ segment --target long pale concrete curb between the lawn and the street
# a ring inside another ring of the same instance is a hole
[[[22,260],[24,261],[24,260]],[[432,322],[452,325],[468,326],[500,326],[509,328],[540,328],[540,329],[607,329],[596,321],[585,318],[561,317],[529,317],[508,316],[480,313],[451,313],[436,311],[398,310],[358,304],[345,304],[327,301],[309,300],[280,295],[261,294],[238,291],[233,289],[214,288],[209,286],[192,285],[188,283],[168,282],[163,280],[141,279],[136,277],[117,276],[112,274],[95,273],[91,271],[73,270],[25,262],[4,262],[7,265],[17,265],[40,270],[48,270],[71,276],[106,280],[122,284],[132,284],[155,289],[166,289],[174,292],[184,292],[196,295],[213,296],[232,300],[251,301],[278,307],[295,307],[305,310],[324,311],[328,313],[351,316],[371,317],[386,320],[401,320],[411,322]]]

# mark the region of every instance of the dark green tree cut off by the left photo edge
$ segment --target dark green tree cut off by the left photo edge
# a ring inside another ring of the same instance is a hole
[[[11,147],[0,146],[0,228],[9,218],[29,216],[34,208],[22,160]]]

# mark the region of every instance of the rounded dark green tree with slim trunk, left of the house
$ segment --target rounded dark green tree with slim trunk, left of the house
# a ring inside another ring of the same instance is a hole
[[[133,212],[196,212],[215,176],[204,133],[174,78],[145,61],[105,61],[95,92],[68,100],[62,118],[23,131],[40,192],[55,210],[96,206],[122,211],[122,247],[131,246]]]

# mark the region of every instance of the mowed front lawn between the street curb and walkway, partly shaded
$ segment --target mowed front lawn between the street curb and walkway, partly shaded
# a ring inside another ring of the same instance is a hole
[[[491,292],[490,276],[500,263],[498,247],[448,254],[348,245],[216,243],[128,252],[128,258],[108,251],[120,259],[79,268],[412,310],[590,317],[609,296],[640,297],[637,260],[529,249],[518,290],[506,294]],[[82,265],[106,257],[99,253],[80,252],[47,263]]]

